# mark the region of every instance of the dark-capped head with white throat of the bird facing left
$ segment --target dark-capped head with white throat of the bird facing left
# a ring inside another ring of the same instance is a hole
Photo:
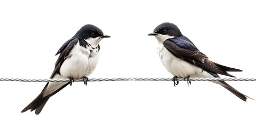
[[[155,36],[159,43],[162,43],[166,39],[182,36],[180,29],[173,23],[165,22],[158,25],[153,33],[148,36]]]

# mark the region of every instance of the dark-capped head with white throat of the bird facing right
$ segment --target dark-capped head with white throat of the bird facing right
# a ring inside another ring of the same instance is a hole
[[[77,31],[74,37],[84,39],[87,43],[96,47],[102,38],[108,38],[110,36],[104,35],[102,30],[94,25],[85,25]]]

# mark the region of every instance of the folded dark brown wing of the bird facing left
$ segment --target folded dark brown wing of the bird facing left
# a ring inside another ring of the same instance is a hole
[[[177,44],[175,44],[170,39],[166,39],[166,41],[163,42],[163,45],[175,57],[185,60],[185,61],[187,61],[193,65],[196,65],[198,67],[201,67],[206,71],[211,71],[213,73],[235,77],[226,72],[226,71],[229,71],[229,69],[234,69],[234,68],[229,68],[229,67],[222,66],[219,64],[215,65],[216,63],[210,61],[204,53],[200,52],[197,49],[192,51],[192,50],[182,48],[182,47],[178,46]]]

